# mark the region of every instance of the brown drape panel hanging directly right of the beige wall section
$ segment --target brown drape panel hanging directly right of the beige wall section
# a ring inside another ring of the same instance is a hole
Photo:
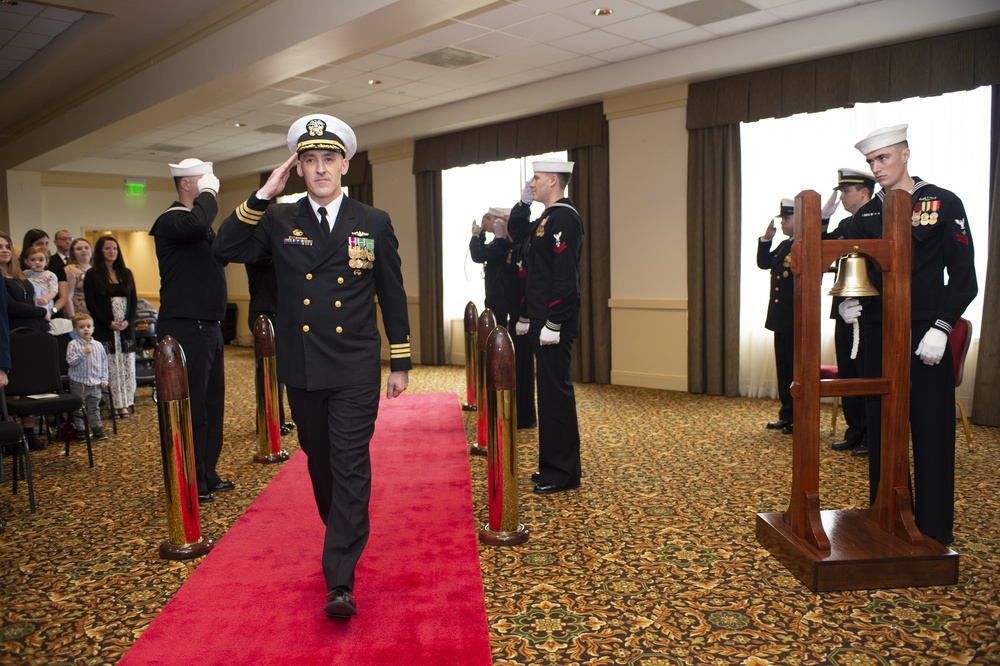
[[[739,395],[741,196],[740,126],[690,130],[687,236],[691,393]]]

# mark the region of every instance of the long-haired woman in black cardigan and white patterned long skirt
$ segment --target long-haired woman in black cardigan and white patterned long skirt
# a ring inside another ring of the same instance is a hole
[[[97,239],[94,255],[94,267],[83,278],[84,298],[94,318],[94,338],[108,351],[108,385],[116,418],[128,418],[135,402],[135,279],[113,237]]]

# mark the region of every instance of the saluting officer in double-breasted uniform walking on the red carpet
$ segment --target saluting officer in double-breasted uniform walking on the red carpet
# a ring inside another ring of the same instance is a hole
[[[278,375],[326,524],[323,610],[350,617],[354,570],[369,535],[368,445],[382,372],[375,297],[390,343],[386,395],[394,398],[412,367],[406,292],[389,215],[341,189],[357,148],[354,131],[333,116],[304,116],[289,129],[288,148],[292,156],[222,223],[215,252],[224,261],[274,262]],[[272,203],[293,168],[308,196]]]

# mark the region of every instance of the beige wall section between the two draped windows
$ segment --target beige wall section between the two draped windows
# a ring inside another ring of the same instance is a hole
[[[609,99],[611,382],[687,390],[686,86]]]

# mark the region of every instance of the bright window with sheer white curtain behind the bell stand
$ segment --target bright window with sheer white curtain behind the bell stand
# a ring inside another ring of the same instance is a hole
[[[912,98],[886,104],[858,104],[851,109],[799,114],[745,123],[740,128],[743,178],[743,255],[740,284],[740,393],[777,397],[773,336],[764,329],[769,272],[757,268],[757,241],[783,198],[804,190],[826,202],[837,184],[837,169],[867,170],[854,144],[880,127],[906,123],[909,173],[949,189],[965,204],[976,246],[979,296],[963,315],[973,325],[960,397],[971,395],[986,284],[989,227],[991,90],[983,87],[940,97]],[[877,186],[876,186],[877,187]],[[847,217],[838,208],[831,227]],[[777,221],[776,221],[777,225]],[[772,240],[783,239],[779,228]],[[833,276],[823,281],[821,312],[830,311]],[[835,363],[833,322],[823,318],[823,363]],[[963,397],[963,400],[965,397]]]

